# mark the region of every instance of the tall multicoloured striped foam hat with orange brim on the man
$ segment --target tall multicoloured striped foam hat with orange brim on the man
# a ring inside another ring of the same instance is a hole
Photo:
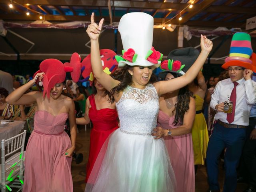
[[[246,69],[253,70],[252,60],[252,42],[249,34],[237,32],[231,40],[229,57],[225,59],[222,68],[227,69],[230,66],[240,66]]]

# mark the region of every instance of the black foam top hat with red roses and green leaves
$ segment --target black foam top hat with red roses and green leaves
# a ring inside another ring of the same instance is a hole
[[[172,50],[167,59],[161,63],[159,77],[164,79],[167,73],[175,73],[179,76],[184,75],[194,64],[200,52],[193,47],[186,47]]]

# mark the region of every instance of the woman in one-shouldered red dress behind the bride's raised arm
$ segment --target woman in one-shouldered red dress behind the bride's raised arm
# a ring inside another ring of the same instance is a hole
[[[100,54],[103,70],[108,74],[114,72],[117,67],[114,65],[114,56],[116,53],[112,50],[102,49],[100,50]],[[87,182],[102,145],[108,136],[118,128],[118,114],[116,112],[116,103],[110,103],[108,101],[106,89],[96,79],[93,80],[90,68],[90,55],[83,60],[82,66],[85,66],[82,76],[85,80],[88,79],[88,75],[90,76],[88,80],[90,80],[90,84],[93,85],[94,90],[94,94],[90,95],[86,100],[84,117],[76,118],[76,124],[88,124],[90,121],[93,124],[90,135],[89,159],[86,167],[85,181]]]

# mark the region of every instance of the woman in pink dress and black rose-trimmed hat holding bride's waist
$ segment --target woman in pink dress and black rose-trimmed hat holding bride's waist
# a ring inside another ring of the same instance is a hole
[[[190,56],[197,53],[197,50],[195,51],[194,48],[182,48],[170,52],[168,58],[174,59],[174,62],[168,60],[161,64],[161,69],[165,71],[161,72],[159,76],[164,80],[182,76],[190,66],[189,62],[182,61],[179,58],[180,56],[175,57],[175,53],[178,55],[183,53]],[[178,62],[179,60],[185,63],[186,67],[183,66],[182,68],[182,65]],[[193,63],[194,61],[191,59],[190,62]],[[187,87],[183,87],[180,90],[162,95],[159,98],[159,107],[158,128],[155,131],[161,132],[164,137],[176,176],[177,191],[194,192],[194,153],[190,131],[196,113],[195,100]]]

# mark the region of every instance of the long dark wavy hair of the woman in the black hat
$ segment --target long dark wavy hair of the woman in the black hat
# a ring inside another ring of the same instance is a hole
[[[174,78],[179,77],[178,74],[171,73]],[[182,125],[184,122],[184,115],[189,109],[190,97],[193,97],[193,94],[188,90],[188,86],[180,88],[178,92],[178,99],[172,111],[175,114],[173,125]]]

